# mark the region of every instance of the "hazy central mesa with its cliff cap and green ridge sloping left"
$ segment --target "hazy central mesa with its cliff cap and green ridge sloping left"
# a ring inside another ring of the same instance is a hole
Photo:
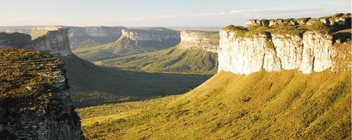
[[[180,32],[166,28],[124,29],[115,42],[77,49],[73,53],[94,62],[173,47],[180,40]]]

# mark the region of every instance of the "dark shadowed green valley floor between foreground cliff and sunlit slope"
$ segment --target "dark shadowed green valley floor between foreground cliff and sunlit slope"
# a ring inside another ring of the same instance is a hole
[[[123,71],[96,66],[76,55],[67,62],[67,78],[77,108],[183,94],[212,75],[164,74]]]

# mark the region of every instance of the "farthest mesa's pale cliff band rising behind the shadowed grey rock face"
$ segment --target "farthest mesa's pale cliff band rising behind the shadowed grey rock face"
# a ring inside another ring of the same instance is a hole
[[[55,31],[59,28],[69,28],[68,34],[71,37],[79,35],[90,35],[90,36],[118,36],[117,39],[122,35],[121,30],[126,29],[123,26],[107,27],[107,26],[87,26],[87,27],[74,27],[74,26],[42,26],[33,27],[29,33],[32,35],[32,39],[45,34],[48,31]]]

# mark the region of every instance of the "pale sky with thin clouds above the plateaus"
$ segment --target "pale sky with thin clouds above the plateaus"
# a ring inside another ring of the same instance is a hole
[[[245,26],[351,13],[351,0],[0,0],[0,26]]]

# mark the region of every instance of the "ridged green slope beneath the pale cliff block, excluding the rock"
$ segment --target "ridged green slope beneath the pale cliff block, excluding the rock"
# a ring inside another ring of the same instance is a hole
[[[202,49],[178,49],[176,46],[161,51],[108,59],[96,64],[145,72],[215,74],[218,71],[218,54]]]

